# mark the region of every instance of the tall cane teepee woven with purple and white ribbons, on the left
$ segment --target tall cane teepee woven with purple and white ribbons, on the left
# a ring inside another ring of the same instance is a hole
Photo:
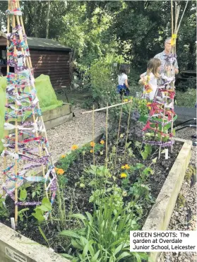
[[[8,0],[7,15],[7,87],[4,151],[4,197],[18,206],[39,205],[37,201],[19,201],[18,191],[27,181],[42,182],[51,203],[56,195],[56,173],[49,153],[47,133],[35,90],[30,52],[18,0]],[[13,68],[13,73],[9,69]],[[41,172],[41,176],[38,174]],[[46,217],[49,213],[46,214]]]

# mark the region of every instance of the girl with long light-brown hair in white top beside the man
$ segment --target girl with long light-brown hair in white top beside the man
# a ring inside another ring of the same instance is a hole
[[[161,69],[160,59],[153,58],[148,61],[147,71],[141,74],[140,84],[144,85],[145,98],[153,100],[157,90],[157,79],[160,78]]]

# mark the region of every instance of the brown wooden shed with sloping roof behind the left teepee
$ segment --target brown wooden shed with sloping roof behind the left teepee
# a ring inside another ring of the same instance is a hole
[[[56,42],[52,39],[28,37],[28,46],[32,59],[35,78],[42,73],[50,77],[54,89],[62,85],[66,87],[71,84],[71,48]],[[1,52],[6,50],[6,37],[0,32],[0,59]],[[6,65],[1,65],[1,73],[6,75]]]

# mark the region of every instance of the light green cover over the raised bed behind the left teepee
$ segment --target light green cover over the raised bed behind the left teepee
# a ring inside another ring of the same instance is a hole
[[[35,89],[37,90],[37,97],[39,99],[42,112],[54,109],[56,107],[61,107],[63,104],[63,101],[57,100],[49,76],[40,75],[39,77],[35,78]],[[0,77],[0,152],[4,149],[1,139],[4,136],[5,100],[6,76],[3,76]]]

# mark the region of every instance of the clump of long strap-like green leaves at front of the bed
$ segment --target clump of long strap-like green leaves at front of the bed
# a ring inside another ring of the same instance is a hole
[[[66,258],[75,262],[141,261],[141,258],[147,258],[146,254],[129,251],[129,232],[138,230],[137,218],[122,206],[114,210],[112,198],[106,198],[93,215],[86,212],[85,215],[74,214],[72,218],[81,220],[83,228],[60,233],[71,238],[71,245],[76,249],[73,256],[63,254]]]

